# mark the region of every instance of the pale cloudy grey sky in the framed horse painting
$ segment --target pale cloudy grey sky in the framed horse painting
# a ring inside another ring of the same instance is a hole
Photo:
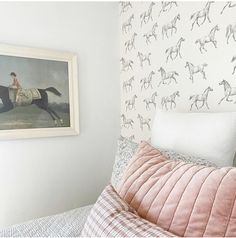
[[[67,62],[0,55],[0,85],[12,83],[10,73],[15,72],[22,88],[55,87],[61,97],[48,93],[50,102],[69,102]]]

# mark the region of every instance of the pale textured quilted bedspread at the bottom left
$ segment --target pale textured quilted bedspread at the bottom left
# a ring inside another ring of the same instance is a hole
[[[0,237],[79,237],[92,206],[0,229]]]

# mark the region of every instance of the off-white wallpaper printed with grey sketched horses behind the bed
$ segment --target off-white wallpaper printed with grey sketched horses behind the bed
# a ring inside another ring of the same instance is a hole
[[[121,2],[120,38],[124,137],[156,108],[236,111],[236,2]]]

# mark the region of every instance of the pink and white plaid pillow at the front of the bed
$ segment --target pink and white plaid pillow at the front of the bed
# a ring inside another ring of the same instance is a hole
[[[81,232],[83,237],[174,237],[142,219],[108,185],[92,208]]]

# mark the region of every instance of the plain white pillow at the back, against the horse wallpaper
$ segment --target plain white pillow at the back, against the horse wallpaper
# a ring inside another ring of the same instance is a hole
[[[236,151],[236,113],[171,113],[157,110],[154,146],[232,166]]]

